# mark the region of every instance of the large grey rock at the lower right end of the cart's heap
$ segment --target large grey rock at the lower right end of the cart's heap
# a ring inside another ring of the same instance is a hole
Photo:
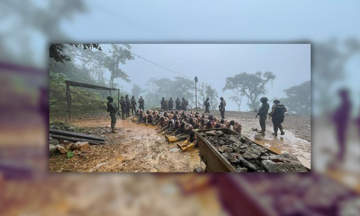
[[[283,153],[271,155],[269,158],[270,160],[261,161],[261,166],[266,172],[307,172],[305,166],[293,154]]]

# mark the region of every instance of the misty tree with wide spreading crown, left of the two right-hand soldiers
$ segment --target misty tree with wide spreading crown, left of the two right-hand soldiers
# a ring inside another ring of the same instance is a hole
[[[265,73],[258,71],[255,74],[244,72],[226,78],[226,84],[222,91],[232,90],[237,93],[240,90],[241,93],[235,97],[240,100],[239,96],[245,95],[248,98],[247,104],[249,108],[251,111],[255,111],[259,107],[259,96],[267,93],[265,85],[269,82],[272,84],[275,78],[276,76],[270,71]]]

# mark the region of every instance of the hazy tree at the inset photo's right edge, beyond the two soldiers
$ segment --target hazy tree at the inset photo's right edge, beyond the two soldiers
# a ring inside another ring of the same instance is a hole
[[[288,112],[298,115],[311,113],[311,82],[306,81],[300,85],[285,89],[286,98],[281,102],[287,107]]]

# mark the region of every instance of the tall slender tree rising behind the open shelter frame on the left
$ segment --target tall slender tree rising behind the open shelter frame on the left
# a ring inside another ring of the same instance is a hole
[[[105,66],[111,72],[109,85],[114,88],[115,79],[122,79],[127,83],[130,83],[129,75],[125,71],[119,68],[119,64],[126,64],[126,60],[133,60],[134,56],[131,54],[131,47],[129,44],[111,44],[111,50],[109,50],[111,56],[107,56],[105,59]]]

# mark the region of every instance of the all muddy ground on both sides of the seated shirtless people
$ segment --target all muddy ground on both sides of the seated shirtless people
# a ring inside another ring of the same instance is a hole
[[[216,111],[212,113],[219,116]],[[267,119],[266,136],[261,141],[254,139],[256,132],[251,130],[252,127],[260,129],[255,116],[251,112],[225,112],[226,119],[242,124],[243,133],[251,140],[293,153],[310,168],[310,116],[287,115],[283,123],[285,135],[281,137],[271,135],[273,125]],[[86,152],[70,159],[66,154],[55,153],[49,159],[50,172],[192,172],[197,167],[205,168],[198,156],[198,148],[181,152],[176,143],[168,144],[161,133],[156,133],[154,126],[118,118],[118,133],[111,133],[108,113],[74,117],[69,122],[84,128],[83,133],[105,137],[105,145],[91,145]]]

